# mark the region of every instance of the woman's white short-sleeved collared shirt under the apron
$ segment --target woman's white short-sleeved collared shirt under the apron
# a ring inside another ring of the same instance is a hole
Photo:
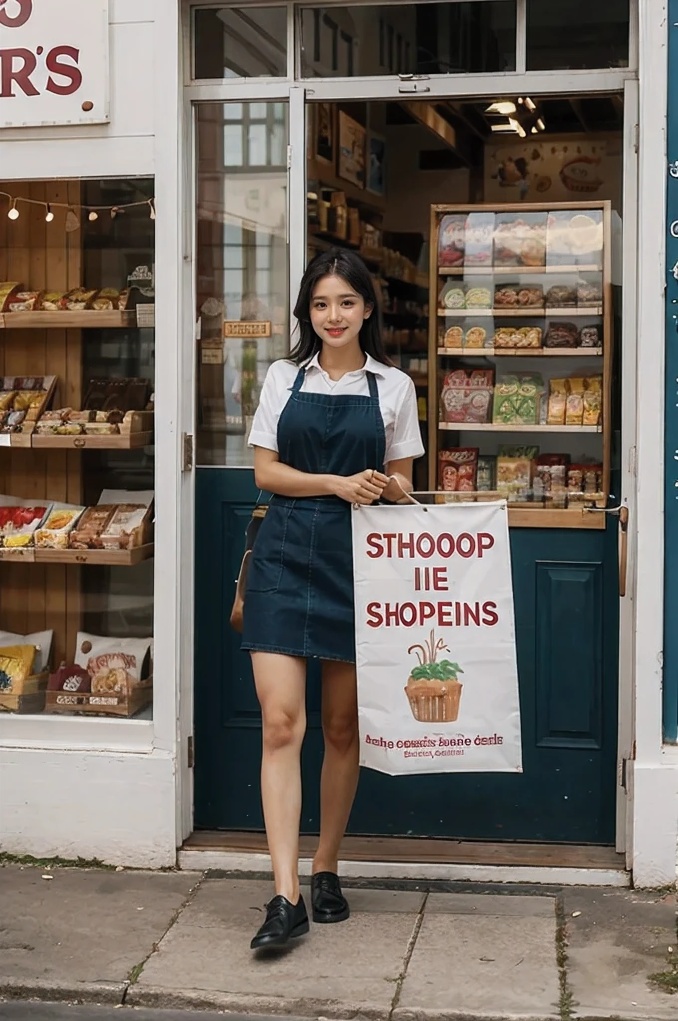
[[[249,434],[249,446],[265,447],[267,450],[278,452],[278,421],[290,398],[298,372],[298,366],[284,359],[274,361],[269,369]],[[403,457],[421,457],[424,444],[419,427],[417,391],[409,377],[399,369],[383,366],[368,354],[362,369],[345,373],[340,380],[333,380],[321,369],[318,354],[314,354],[306,363],[301,390],[333,397],[345,394],[369,397],[367,373],[373,373],[377,380],[379,407],[386,432],[385,463],[388,465],[391,460]]]

